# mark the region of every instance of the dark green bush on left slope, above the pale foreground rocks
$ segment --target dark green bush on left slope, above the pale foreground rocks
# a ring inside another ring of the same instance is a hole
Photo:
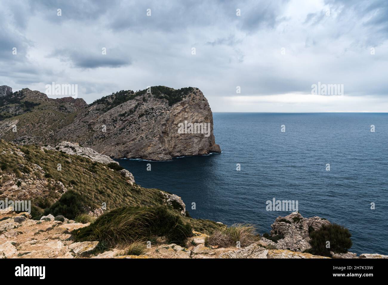
[[[85,202],[80,194],[69,190],[58,201],[45,209],[44,215],[51,214],[54,217],[62,215],[70,220],[74,220],[78,214],[85,212],[87,206],[87,202]]]

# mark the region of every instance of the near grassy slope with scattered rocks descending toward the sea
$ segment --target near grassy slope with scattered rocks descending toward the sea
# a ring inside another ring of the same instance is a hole
[[[31,200],[33,217],[63,209],[61,204],[71,199],[80,202],[78,211],[95,215],[122,206],[166,205],[176,211],[172,203],[166,203],[166,195],[172,194],[140,187],[121,169],[117,163],[104,164],[64,151],[0,140],[0,199]],[[198,230],[217,226],[212,221],[182,218]]]

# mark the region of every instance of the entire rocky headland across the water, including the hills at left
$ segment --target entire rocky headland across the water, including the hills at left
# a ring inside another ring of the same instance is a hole
[[[198,88],[122,90],[89,106],[82,99],[50,99],[29,89],[12,93],[2,86],[1,91],[0,137],[18,144],[71,141],[114,158],[147,160],[221,151],[213,114]]]

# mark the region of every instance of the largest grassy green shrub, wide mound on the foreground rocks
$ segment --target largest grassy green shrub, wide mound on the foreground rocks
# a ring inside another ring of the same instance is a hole
[[[191,226],[164,206],[121,207],[104,213],[88,227],[73,232],[76,241],[98,240],[109,246],[166,236],[169,243],[184,245]]]

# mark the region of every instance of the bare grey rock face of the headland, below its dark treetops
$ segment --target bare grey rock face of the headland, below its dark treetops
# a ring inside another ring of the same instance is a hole
[[[97,102],[58,135],[114,158],[171,160],[221,151],[213,135],[213,114],[199,89],[191,88],[171,106],[155,92],[151,88],[151,93],[139,94],[113,108]],[[107,98],[108,102],[115,99]],[[179,124],[185,121],[208,124],[208,133],[180,134]]]

